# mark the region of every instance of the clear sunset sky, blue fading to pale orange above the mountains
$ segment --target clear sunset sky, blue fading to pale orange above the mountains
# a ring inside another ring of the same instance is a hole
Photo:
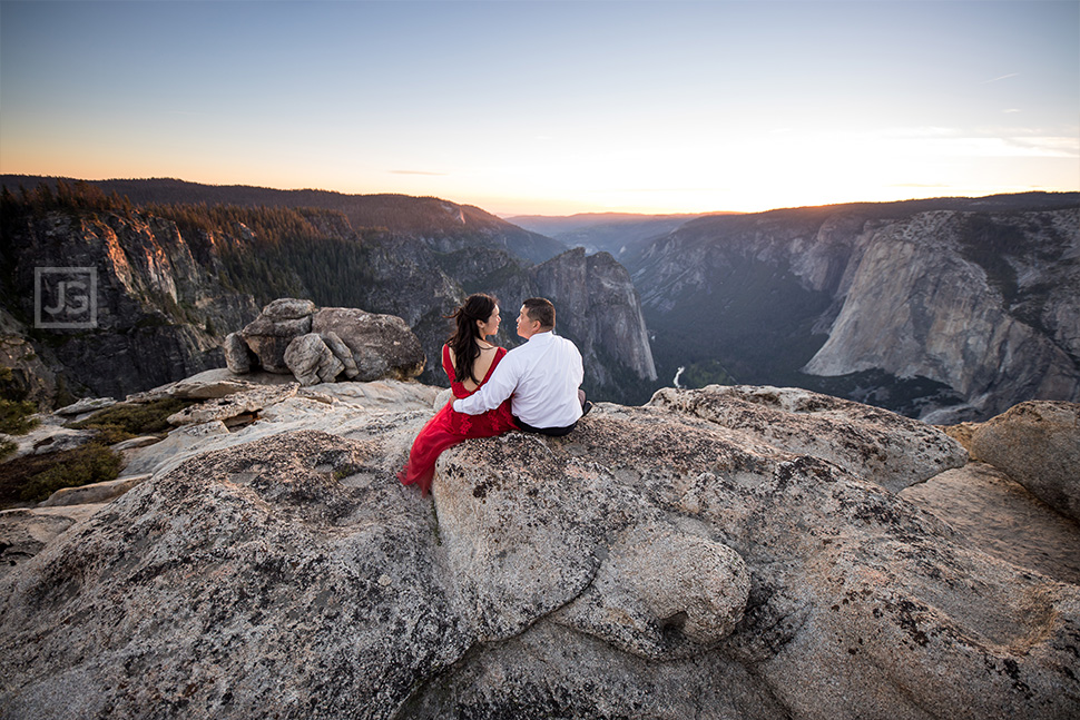
[[[1080,2],[0,2],[0,172],[503,216],[1080,190]]]

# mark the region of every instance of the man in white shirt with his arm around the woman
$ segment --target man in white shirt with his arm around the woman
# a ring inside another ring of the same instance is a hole
[[[528,342],[507,353],[480,389],[454,401],[454,410],[479,415],[512,396],[510,406],[521,430],[566,435],[592,406],[578,389],[585,374],[581,353],[554,334],[554,305],[542,297],[522,304],[518,335]]]

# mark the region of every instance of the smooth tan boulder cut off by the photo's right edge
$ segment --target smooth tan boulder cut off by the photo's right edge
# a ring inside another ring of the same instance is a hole
[[[971,430],[971,452],[1080,522],[1080,404],[1030,401]]]

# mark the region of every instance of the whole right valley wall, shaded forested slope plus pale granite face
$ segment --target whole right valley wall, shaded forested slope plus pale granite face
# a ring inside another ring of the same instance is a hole
[[[627,264],[661,376],[711,359],[714,382],[939,421],[1080,397],[1077,207],[906,209],[709,217],[654,240]]]

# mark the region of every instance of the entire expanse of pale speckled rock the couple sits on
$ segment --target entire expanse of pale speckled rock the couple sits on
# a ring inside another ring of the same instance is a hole
[[[665,389],[469,441],[425,500],[395,472],[438,388],[215,373],[119,481],[0,514],[0,716],[1080,717],[1076,404],[970,456]]]

